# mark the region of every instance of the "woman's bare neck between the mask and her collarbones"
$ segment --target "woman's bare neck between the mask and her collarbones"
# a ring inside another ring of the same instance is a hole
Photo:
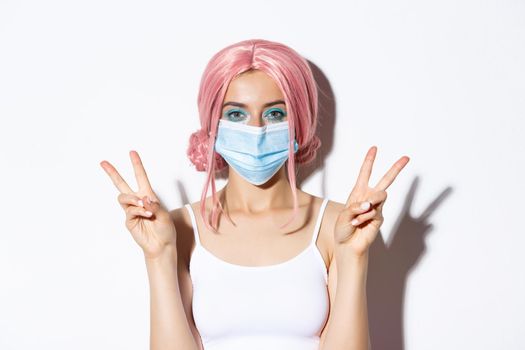
[[[253,185],[233,169],[229,169],[224,196],[229,212],[249,214],[265,212],[275,207],[292,207],[293,193],[286,177],[286,163],[262,185]]]

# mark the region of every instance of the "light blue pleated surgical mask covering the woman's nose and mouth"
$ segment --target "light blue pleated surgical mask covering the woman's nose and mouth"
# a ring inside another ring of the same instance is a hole
[[[251,126],[220,119],[215,151],[246,181],[262,185],[288,159],[288,122]],[[294,140],[294,153],[299,145]]]

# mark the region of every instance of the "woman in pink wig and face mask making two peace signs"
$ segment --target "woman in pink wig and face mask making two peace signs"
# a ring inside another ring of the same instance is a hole
[[[135,151],[137,192],[101,162],[144,251],[151,349],[367,349],[368,250],[409,158],[369,187],[371,147],[345,204],[296,188],[295,163],[320,145],[317,89],[306,60],[276,42],[215,54],[198,105],[188,156],[207,173],[200,201],[168,212]]]

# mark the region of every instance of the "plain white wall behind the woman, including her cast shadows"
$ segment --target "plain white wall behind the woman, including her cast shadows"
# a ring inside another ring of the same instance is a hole
[[[264,38],[317,67],[324,148],[306,191],[345,201],[366,150],[388,190],[374,349],[523,349],[523,1],[0,3],[0,348],[146,349],[149,290],[117,190],[142,156],[172,209],[219,49]],[[223,182],[220,183],[221,185]]]

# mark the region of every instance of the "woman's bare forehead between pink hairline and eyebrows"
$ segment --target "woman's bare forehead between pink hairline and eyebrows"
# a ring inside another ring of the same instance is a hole
[[[235,77],[224,98],[225,101],[255,105],[278,99],[284,100],[281,89],[268,74],[260,70],[248,71]]]

